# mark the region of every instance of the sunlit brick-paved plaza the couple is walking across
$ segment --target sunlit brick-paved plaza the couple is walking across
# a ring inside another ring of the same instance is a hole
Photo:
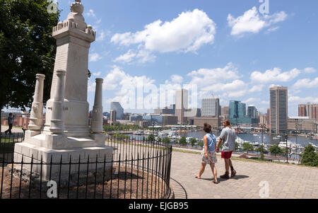
[[[189,199],[260,199],[259,191],[264,192],[263,180],[269,183],[269,198],[308,199],[318,198],[318,168],[284,165],[281,163],[257,163],[233,161],[237,176],[230,180],[219,178],[225,172],[223,159],[218,156],[218,185],[211,183],[213,174],[210,166],[202,179],[194,178],[199,173],[201,155],[173,151],[171,178],[172,188],[177,187],[175,198]],[[182,186],[182,187],[181,187]],[[184,188],[185,193],[180,192]],[[264,195],[264,194],[262,194]]]

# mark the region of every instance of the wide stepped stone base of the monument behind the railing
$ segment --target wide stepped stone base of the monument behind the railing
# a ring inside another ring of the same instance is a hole
[[[112,153],[113,148],[105,146],[104,134],[76,138],[54,134],[35,135],[35,132],[27,131],[25,142],[15,146],[14,162],[21,166],[20,162],[23,159],[23,170],[30,171],[33,161],[33,173],[40,174],[42,170],[43,180],[59,180],[60,176],[61,180],[67,180],[69,174],[76,175],[79,171],[80,174],[86,175],[102,171],[104,165],[105,171],[110,171]]]

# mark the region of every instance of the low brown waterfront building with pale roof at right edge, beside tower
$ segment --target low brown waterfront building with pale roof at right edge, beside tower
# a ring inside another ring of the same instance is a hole
[[[317,120],[310,117],[288,117],[288,131],[317,132]]]

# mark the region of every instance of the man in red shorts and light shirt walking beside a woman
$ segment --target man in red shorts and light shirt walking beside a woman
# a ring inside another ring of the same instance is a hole
[[[216,146],[216,152],[218,153],[220,151],[220,144],[223,142],[222,159],[224,159],[224,162],[225,162],[225,174],[221,175],[220,178],[229,179],[230,168],[231,168],[231,178],[233,178],[236,175],[236,171],[234,170],[234,167],[231,161],[232,152],[235,150],[236,134],[235,134],[235,130],[232,129],[230,120],[224,120],[223,126],[224,126],[224,129],[222,130],[220,134],[220,139],[218,141],[218,145]]]

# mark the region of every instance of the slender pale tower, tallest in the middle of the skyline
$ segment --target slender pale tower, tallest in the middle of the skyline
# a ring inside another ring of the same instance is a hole
[[[189,91],[184,88],[175,91],[175,115],[181,125],[187,123],[187,120],[184,119],[184,111],[188,108],[188,96]]]

